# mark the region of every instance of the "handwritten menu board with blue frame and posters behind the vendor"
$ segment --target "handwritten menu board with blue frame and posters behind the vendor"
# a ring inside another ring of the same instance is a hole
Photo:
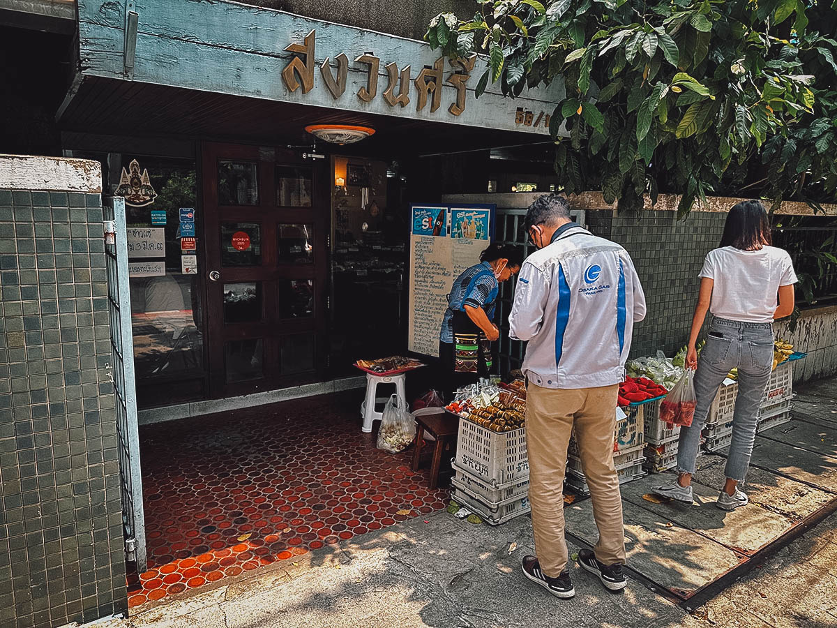
[[[410,351],[439,356],[439,328],[450,287],[463,270],[480,263],[494,228],[494,211],[494,205],[410,208]]]

